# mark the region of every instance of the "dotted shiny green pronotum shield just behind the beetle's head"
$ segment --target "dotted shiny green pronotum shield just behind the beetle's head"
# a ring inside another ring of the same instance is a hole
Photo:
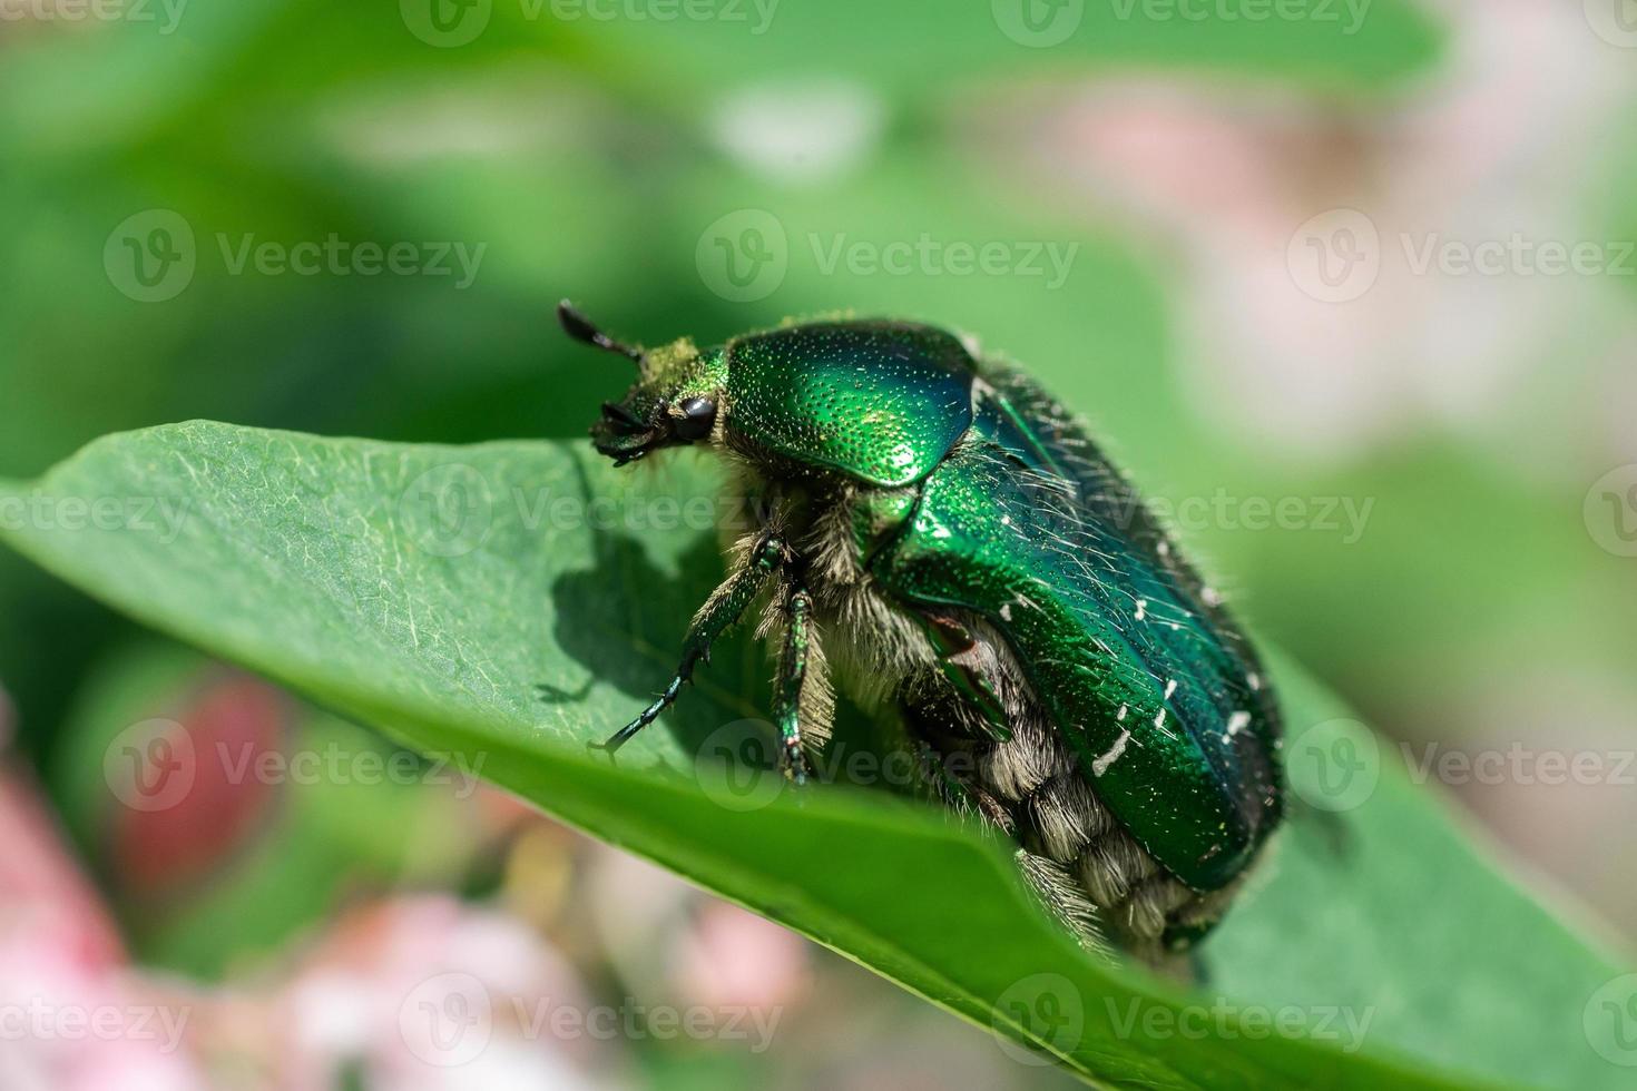
[[[727,345],[732,442],[874,486],[920,481],[972,424],[972,360],[902,322],[814,322]]]

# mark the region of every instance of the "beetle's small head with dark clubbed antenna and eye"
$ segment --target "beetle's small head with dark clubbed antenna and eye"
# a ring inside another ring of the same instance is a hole
[[[563,330],[575,340],[619,353],[637,365],[637,383],[617,402],[602,402],[591,442],[616,466],[663,447],[710,442],[722,389],[722,352],[701,353],[686,337],[661,348],[624,345],[599,330],[565,299],[557,304]]]

